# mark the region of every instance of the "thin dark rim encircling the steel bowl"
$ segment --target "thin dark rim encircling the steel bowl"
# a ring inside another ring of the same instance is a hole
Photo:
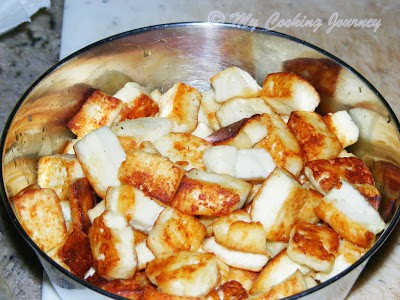
[[[182,22],[182,23],[169,23],[169,24],[160,24],[160,25],[154,25],[154,26],[148,26],[148,27],[143,27],[143,28],[138,28],[138,29],[134,29],[134,30],[130,30],[130,31],[126,31],[126,32],[122,32],[110,37],[107,37],[105,39],[102,39],[100,41],[97,41],[95,43],[92,43],[74,53],[72,53],[71,55],[65,57],[64,59],[60,60],[57,64],[55,64],[54,66],[52,66],[50,69],[48,69],[45,73],[43,73],[42,76],[40,76],[34,83],[32,83],[30,85],[30,87],[25,91],[25,93],[21,96],[21,98],[18,100],[18,102],[16,103],[16,105],[14,106],[13,110],[11,111],[5,125],[4,125],[4,129],[3,129],[3,133],[1,136],[1,142],[0,142],[0,149],[2,149],[2,155],[4,155],[4,146],[5,146],[5,139],[6,139],[6,135],[8,133],[10,124],[12,123],[15,114],[18,112],[19,107],[21,106],[21,104],[24,102],[25,98],[29,95],[29,93],[44,79],[46,78],[50,73],[52,73],[54,70],[56,70],[58,67],[60,67],[61,65],[63,65],[64,63],[68,62],[69,60],[73,59],[74,57],[78,56],[79,54],[86,52],[92,48],[95,48],[98,45],[104,44],[104,43],[108,43],[111,42],[113,40],[116,39],[121,39],[124,38],[126,36],[134,36],[143,32],[147,32],[147,31],[155,31],[155,30],[160,30],[160,29],[165,29],[165,28],[177,28],[177,27],[214,27],[214,28],[222,28],[222,29],[239,29],[239,30],[244,30],[244,31],[251,31],[251,32],[257,32],[257,33],[262,33],[262,34],[266,34],[266,35],[273,35],[273,36],[277,36],[283,39],[287,39],[290,41],[293,41],[295,43],[307,46],[313,50],[316,50],[319,53],[322,53],[323,55],[325,55],[326,57],[332,59],[333,61],[335,61],[336,63],[338,63],[339,65],[341,65],[342,67],[346,68],[347,70],[349,70],[350,72],[352,72],[353,74],[355,74],[361,81],[363,81],[368,88],[370,88],[370,90],[376,94],[376,96],[380,99],[380,101],[383,103],[383,105],[386,107],[386,109],[388,110],[388,112],[391,114],[392,120],[394,121],[394,124],[396,125],[397,131],[400,132],[400,123],[396,117],[396,115],[394,114],[393,110],[391,109],[391,107],[389,106],[389,104],[386,102],[386,100],[382,97],[382,95],[375,89],[375,87],[368,81],[366,80],[359,72],[357,72],[355,69],[353,69],[351,66],[349,66],[348,64],[346,64],[345,62],[343,62],[342,60],[340,60],[339,58],[337,58],[336,56],[332,55],[331,53],[313,45],[310,44],[306,41],[303,41],[301,39],[295,38],[293,36],[284,34],[284,33],[280,33],[280,32],[276,32],[276,31],[271,31],[271,30],[266,30],[264,28],[252,28],[252,27],[248,27],[248,26],[242,26],[242,25],[236,25],[236,24],[229,24],[229,23],[209,23],[209,22]],[[3,168],[0,168],[0,178],[3,179]],[[71,279],[75,280],[76,282],[78,282],[79,284],[94,290],[100,294],[103,294],[107,297],[110,298],[114,298],[114,299],[126,299],[124,297],[118,296],[116,294],[107,292],[105,290],[102,290],[100,288],[98,288],[97,286],[90,284],[89,282],[87,282],[84,279],[81,279],[79,277],[77,277],[76,275],[72,274],[71,272],[67,271],[66,269],[64,269],[63,267],[61,267],[59,264],[57,264],[53,259],[51,259],[44,251],[42,251],[36,244],[35,242],[28,236],[28,234],[25,232],[25,230],[23,229],[23,227],[21,226],[21,224],[19,223],[16,215],[14,214],[14,211],[11,207],[11,204],[8,201],[8,197],[6,194],[6,188],[4,186],[4,181],[1,180],[1,184],[0,184],[0,195],[2,198],[2,201],[4,203],[4,206],[6,208],[6,211],[9,215],[9,217],[11,218],[12,223],[14,224],[14,226],[17,228],[17,230],[19,231],[19,233],[22,235],[22,237],[25,239],[25,241],[35,250],[36,253],[39,253],[51,266],[53,266],[54,268],[56,268],[59,272],[61,272],[62,274],[64,274],[65,276],[70,277]],[[337,281],[338,279],[346,276],[347,274],[349,274],[350,272],[352,272],[354,269],[356,269],[358,266],[360,266],[362,263],[367,262],[368,259],[382,246],[382,244],[386,241],[386,239],[389,237],[389,235],[391,234],[391,232],[393,231],[393,229],[395,228],[398,220],[400,217],[400,209],[397,209],[395,215],[392,217],[391,222],[389,223],[389,225],[387,226],[387,228],[385,229],[385,231],[383,232],[383,234],[379,237],[379,239],[377,240],[377,242],[371,247],[371,249],[368,250],[367,253],[365,253],[359,260],[357,260],[354,264],[352,264],[350,267],[348,267],[347,269],[345,269],[344,271],[340,272],[339,274],[335,275],[334,277],[330,278],[329,280],[322,282],[321,284],[307,289],[304,292],[301,292],[299,294],[287,297],[285,299],[298,299],[301,298],[303,296],[306,295],[310,295],[316,291],[319,291],[320,289],[323,289],[324,287],[330,285],[331,283]]]

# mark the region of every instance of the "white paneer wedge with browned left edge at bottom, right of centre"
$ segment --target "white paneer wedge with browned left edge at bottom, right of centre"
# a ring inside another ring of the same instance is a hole
[[[268,291],[274,285],[283,282],[297,270],[302,274],[307,274],[310,271],[306,266],[292,260],[287,255],[286,250],[281,251],[261,271],[250,289],[250,294],[254,295]]]

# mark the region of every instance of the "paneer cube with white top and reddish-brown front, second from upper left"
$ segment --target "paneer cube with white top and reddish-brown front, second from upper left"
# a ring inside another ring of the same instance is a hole
[[[114,94],[114,97],[123,102],[115,122],[154,117],[159,110],[157,103],[149,96],[148,91],[136,82],[127,82]]]

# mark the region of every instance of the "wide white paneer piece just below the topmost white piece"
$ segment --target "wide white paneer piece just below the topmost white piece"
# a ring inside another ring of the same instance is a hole
[[[228,126],[256,114],[272,113],[272,109],[261,98],[233,98],[221,105],[216,112],[221,127]]]

